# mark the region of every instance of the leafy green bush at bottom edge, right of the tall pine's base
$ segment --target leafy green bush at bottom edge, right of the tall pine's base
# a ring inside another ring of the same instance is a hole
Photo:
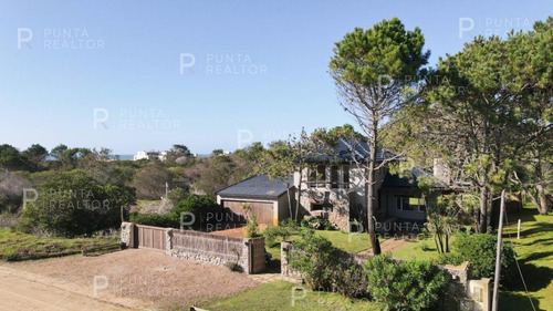
[[[368,292],[392,310],[436,308],[447,289],[446,276],[428,260],[400,263],[390,255],[379,255],[368,259],[365,268]]]

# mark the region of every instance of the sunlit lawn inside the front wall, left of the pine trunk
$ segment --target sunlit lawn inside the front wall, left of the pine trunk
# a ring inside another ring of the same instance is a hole
[[[368,235],[366,234],[349,235],[340,230],[316,230],[315,232],[330,240],[333,246],[348,252],[361,252],[371,247]],[[292,241],[296,238],[298,236],[292,236],[289,240]],[[280,243],[275,247],[268,247],[267,251],[273,256],[273,259],[280,259]]]

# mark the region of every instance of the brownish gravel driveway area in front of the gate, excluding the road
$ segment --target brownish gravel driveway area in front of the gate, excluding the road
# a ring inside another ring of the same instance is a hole
[[[233,296],[260,283],[222,267],[175,259],[145,249],[127,249],[98,257],[4,262],[0,267],[19,271],[21,278],[132,309],[189,307]]]

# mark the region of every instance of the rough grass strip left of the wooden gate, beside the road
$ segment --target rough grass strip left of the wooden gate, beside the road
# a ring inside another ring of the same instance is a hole
[[[83,248],[92,250],[90,253],[117,250],[119,238],[45,238],[0,228],[0,260],[15,261],[75,255],[81,253]]]

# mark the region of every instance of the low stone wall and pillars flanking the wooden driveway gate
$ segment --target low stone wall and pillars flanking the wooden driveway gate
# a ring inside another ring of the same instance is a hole
[[[140,243],[135,238],[137,229],[132,222],[123,222],[122,243],[129,248],[138,248]],[[213,266],[236,262],[244,273],[257,273],[265,268],[264,238],[234,238],[192,230],[164,230],[165,252],[168,256]]]

